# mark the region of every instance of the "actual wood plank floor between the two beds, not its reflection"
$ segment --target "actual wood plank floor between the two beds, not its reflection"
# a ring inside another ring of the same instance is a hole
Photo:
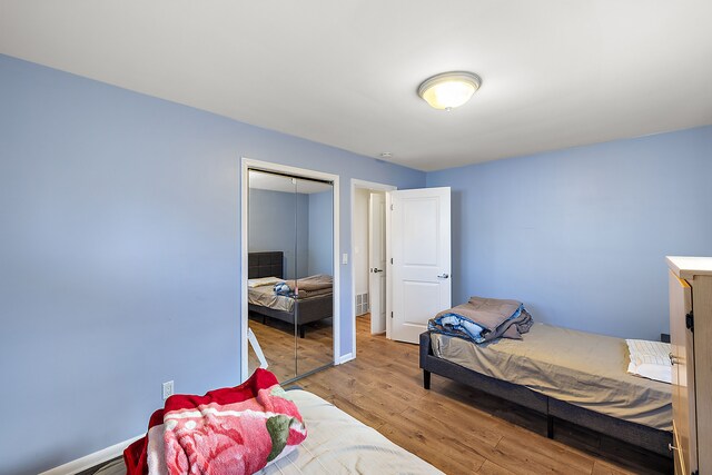
[[[672,473],[670,459],[573,426],[548,439],[545,417],[437,375],[423,389],[418,346],[356,321],[357,358],[298,384],[445,473]]]

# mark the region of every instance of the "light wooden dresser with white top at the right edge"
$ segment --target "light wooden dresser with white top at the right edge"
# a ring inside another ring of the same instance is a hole
[[[668,257],[675,474],[712,474],[712,257]]]

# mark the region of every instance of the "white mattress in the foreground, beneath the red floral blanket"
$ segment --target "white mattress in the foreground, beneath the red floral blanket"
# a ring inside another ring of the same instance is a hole
[[[291,454],[258,474],[442,474],[320,397],[300,389],[288,394],[304,417],[307,438]],[[116,461],[97,474],[123,475],[123,461]]]

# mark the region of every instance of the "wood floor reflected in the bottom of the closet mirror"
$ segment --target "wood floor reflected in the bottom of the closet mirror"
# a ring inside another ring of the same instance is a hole
[[[261,317],[249,317],[249,327],[255,333],[265,358],[269,364],[268,369],[277,379],[285,382],[298,374],[328,365],[334,362],[334,337],[332,319],[314,321],[306,325],[305,338],[295,339],[295,327],[285,321],[267,317],[261,323]],[[248,367],[251,374],[259,362],[253,348],[248,350]]]

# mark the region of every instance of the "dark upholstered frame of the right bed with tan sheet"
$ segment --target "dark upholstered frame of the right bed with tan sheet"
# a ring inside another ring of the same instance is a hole
[[[496,379],[438,358],[433,354],[429,331],[421,334],[421,368],[425,389],[431,388],[431,374],[434,373],[545,415],[548,438],[554,438],[554,422],[558,419],[672,458],[669,448],[669,444],[672,443],[672,433],[584,409],[527,387]]]

